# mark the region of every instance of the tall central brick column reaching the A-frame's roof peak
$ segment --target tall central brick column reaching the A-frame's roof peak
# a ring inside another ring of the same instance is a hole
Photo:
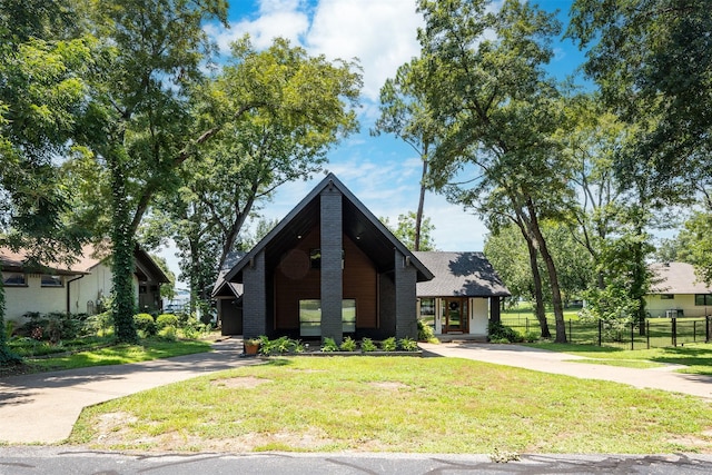
[[[344,337],[342,323],[343,274],[343,217],[342,192],[329,184],[320,194],[322,208],[322,337],[334,338],[337,344]]]

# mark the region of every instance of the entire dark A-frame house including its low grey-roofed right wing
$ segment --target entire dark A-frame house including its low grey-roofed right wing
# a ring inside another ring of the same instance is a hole
[[[416,338],[426,308],[436,330],[484,336],[505,295],[482,254],[409,251],[332,174],[212,291],[225,335],[337,342]]]

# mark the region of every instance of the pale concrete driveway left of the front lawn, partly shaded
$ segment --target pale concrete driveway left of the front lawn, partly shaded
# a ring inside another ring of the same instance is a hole
[[[209,372],[256,363],[240,358],[240,339],[214,352],[146,363],[95,366],[0,379],[0,443],[59,443],[85,407]]]

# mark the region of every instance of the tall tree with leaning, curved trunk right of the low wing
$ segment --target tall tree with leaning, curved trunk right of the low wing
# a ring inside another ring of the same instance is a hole
[[[449,199],[486,212],[498,196],[541,255],[552,289],[556,340],[565,342],[554,259],[540,220],[555,216],[570,195],[567,164],[555,132],[565,126],[557,83],[545,72],[552,14],[506,0],[421,0],[418,31],[426,98],[446,126],[431,158],[431,177]]]

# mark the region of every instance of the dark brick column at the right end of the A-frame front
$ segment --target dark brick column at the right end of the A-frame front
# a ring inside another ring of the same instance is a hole
[[[415,285],[417,270],[409,259],[395,249],[396,338],[418,337]]]

